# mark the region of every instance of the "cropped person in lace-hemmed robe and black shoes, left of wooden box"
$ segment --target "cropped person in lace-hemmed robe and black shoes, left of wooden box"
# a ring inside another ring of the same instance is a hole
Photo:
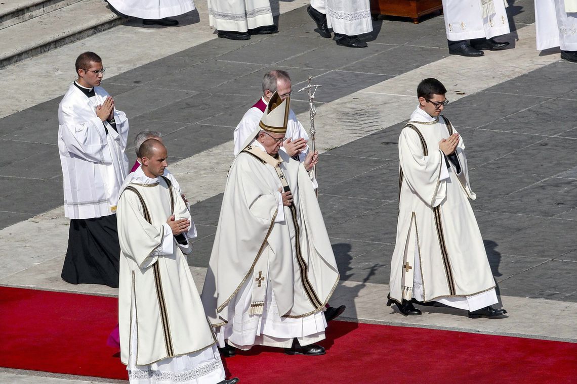
[[[369,0],[310,0],[306,12],[319,28],[319,35],[333,40],[337,45],[350,48],[365,48],[365,41],[358,35],[373,31]]]

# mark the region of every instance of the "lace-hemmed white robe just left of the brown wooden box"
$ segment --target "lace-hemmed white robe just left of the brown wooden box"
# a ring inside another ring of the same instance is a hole
[[[311,0],[310,5],[327,15],[328,28],[356,36],[373,31],[369,0]]]

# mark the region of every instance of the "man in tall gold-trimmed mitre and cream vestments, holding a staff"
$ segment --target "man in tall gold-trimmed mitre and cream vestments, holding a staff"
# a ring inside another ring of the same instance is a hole
[[[323,355],[323,308],[339,282],[314,188],[318,153],[280,151],[290,97],[273,93],[228,173],[202,299],[219,346]]]

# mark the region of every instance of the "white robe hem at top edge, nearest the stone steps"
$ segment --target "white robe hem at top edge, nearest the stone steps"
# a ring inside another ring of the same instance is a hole
[[[107,0],[127,16],[160,20],[194,10],[193,0]]]

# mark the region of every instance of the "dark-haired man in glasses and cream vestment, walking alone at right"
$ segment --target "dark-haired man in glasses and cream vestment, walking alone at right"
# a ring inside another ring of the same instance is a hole
[[[469,317],[507,313],[477,220],[463,139],[441,116],[447,90],[437,79],[419,83],[419,105],[399,136],[399,219],[391,261],[387,305],[420,315],[413,302],[439,302],[469,311]]]

